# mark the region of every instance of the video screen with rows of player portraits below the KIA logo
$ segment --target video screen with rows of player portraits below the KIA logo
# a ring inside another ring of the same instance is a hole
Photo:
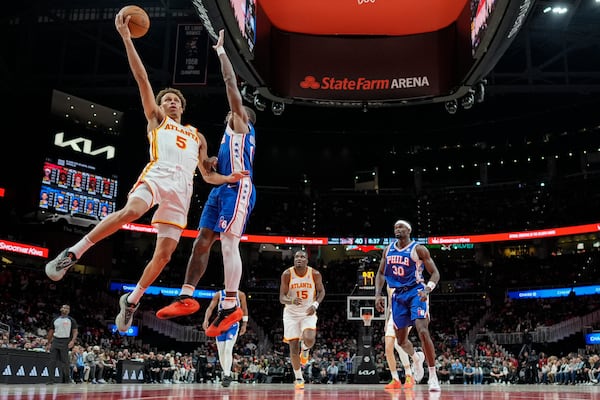
[[[119,182],[97,174],[89,165],[47,159],[42,168],[39,208],[58,213],[96,215],[115,211]]]

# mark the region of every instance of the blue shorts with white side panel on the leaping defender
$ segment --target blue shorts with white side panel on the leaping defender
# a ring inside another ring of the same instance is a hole
[[[250,179],[213,188],[204,204],[199,228],[242,236],[256,201],[256,191]]]

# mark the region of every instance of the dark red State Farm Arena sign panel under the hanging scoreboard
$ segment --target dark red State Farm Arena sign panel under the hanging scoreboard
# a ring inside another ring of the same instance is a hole
[[[317,37],[274,30],[279,52],[273,65],[281,72],[272,71],[273,89],[283,97],[322,100],[439,95],[452,87],[459,68],[452,38],[445,30],[398,38]]]

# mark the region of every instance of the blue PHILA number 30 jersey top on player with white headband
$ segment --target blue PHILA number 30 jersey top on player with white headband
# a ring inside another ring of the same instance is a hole
[[[423,261],[419,259],[417,242],[412,241],[404,248],[398,248],[396,240],[383,254],[385,257],[384,276],[388,287],[399,288],[414,286],[423,282]]]

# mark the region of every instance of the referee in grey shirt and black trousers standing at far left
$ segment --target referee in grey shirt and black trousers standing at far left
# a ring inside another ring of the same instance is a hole
[[[69,349],[75,345],[77,339],[77,322],[69,316],[71,307],[63,304],[60,307],[60,315],[52,321],[52,327],[48,330],[48,344],[46,350],[50,351],[50,364],[48,368],[48,384],[54,383],[56,367],[59,370],[59,383],[71,382],[71,371],[69,367]]]

